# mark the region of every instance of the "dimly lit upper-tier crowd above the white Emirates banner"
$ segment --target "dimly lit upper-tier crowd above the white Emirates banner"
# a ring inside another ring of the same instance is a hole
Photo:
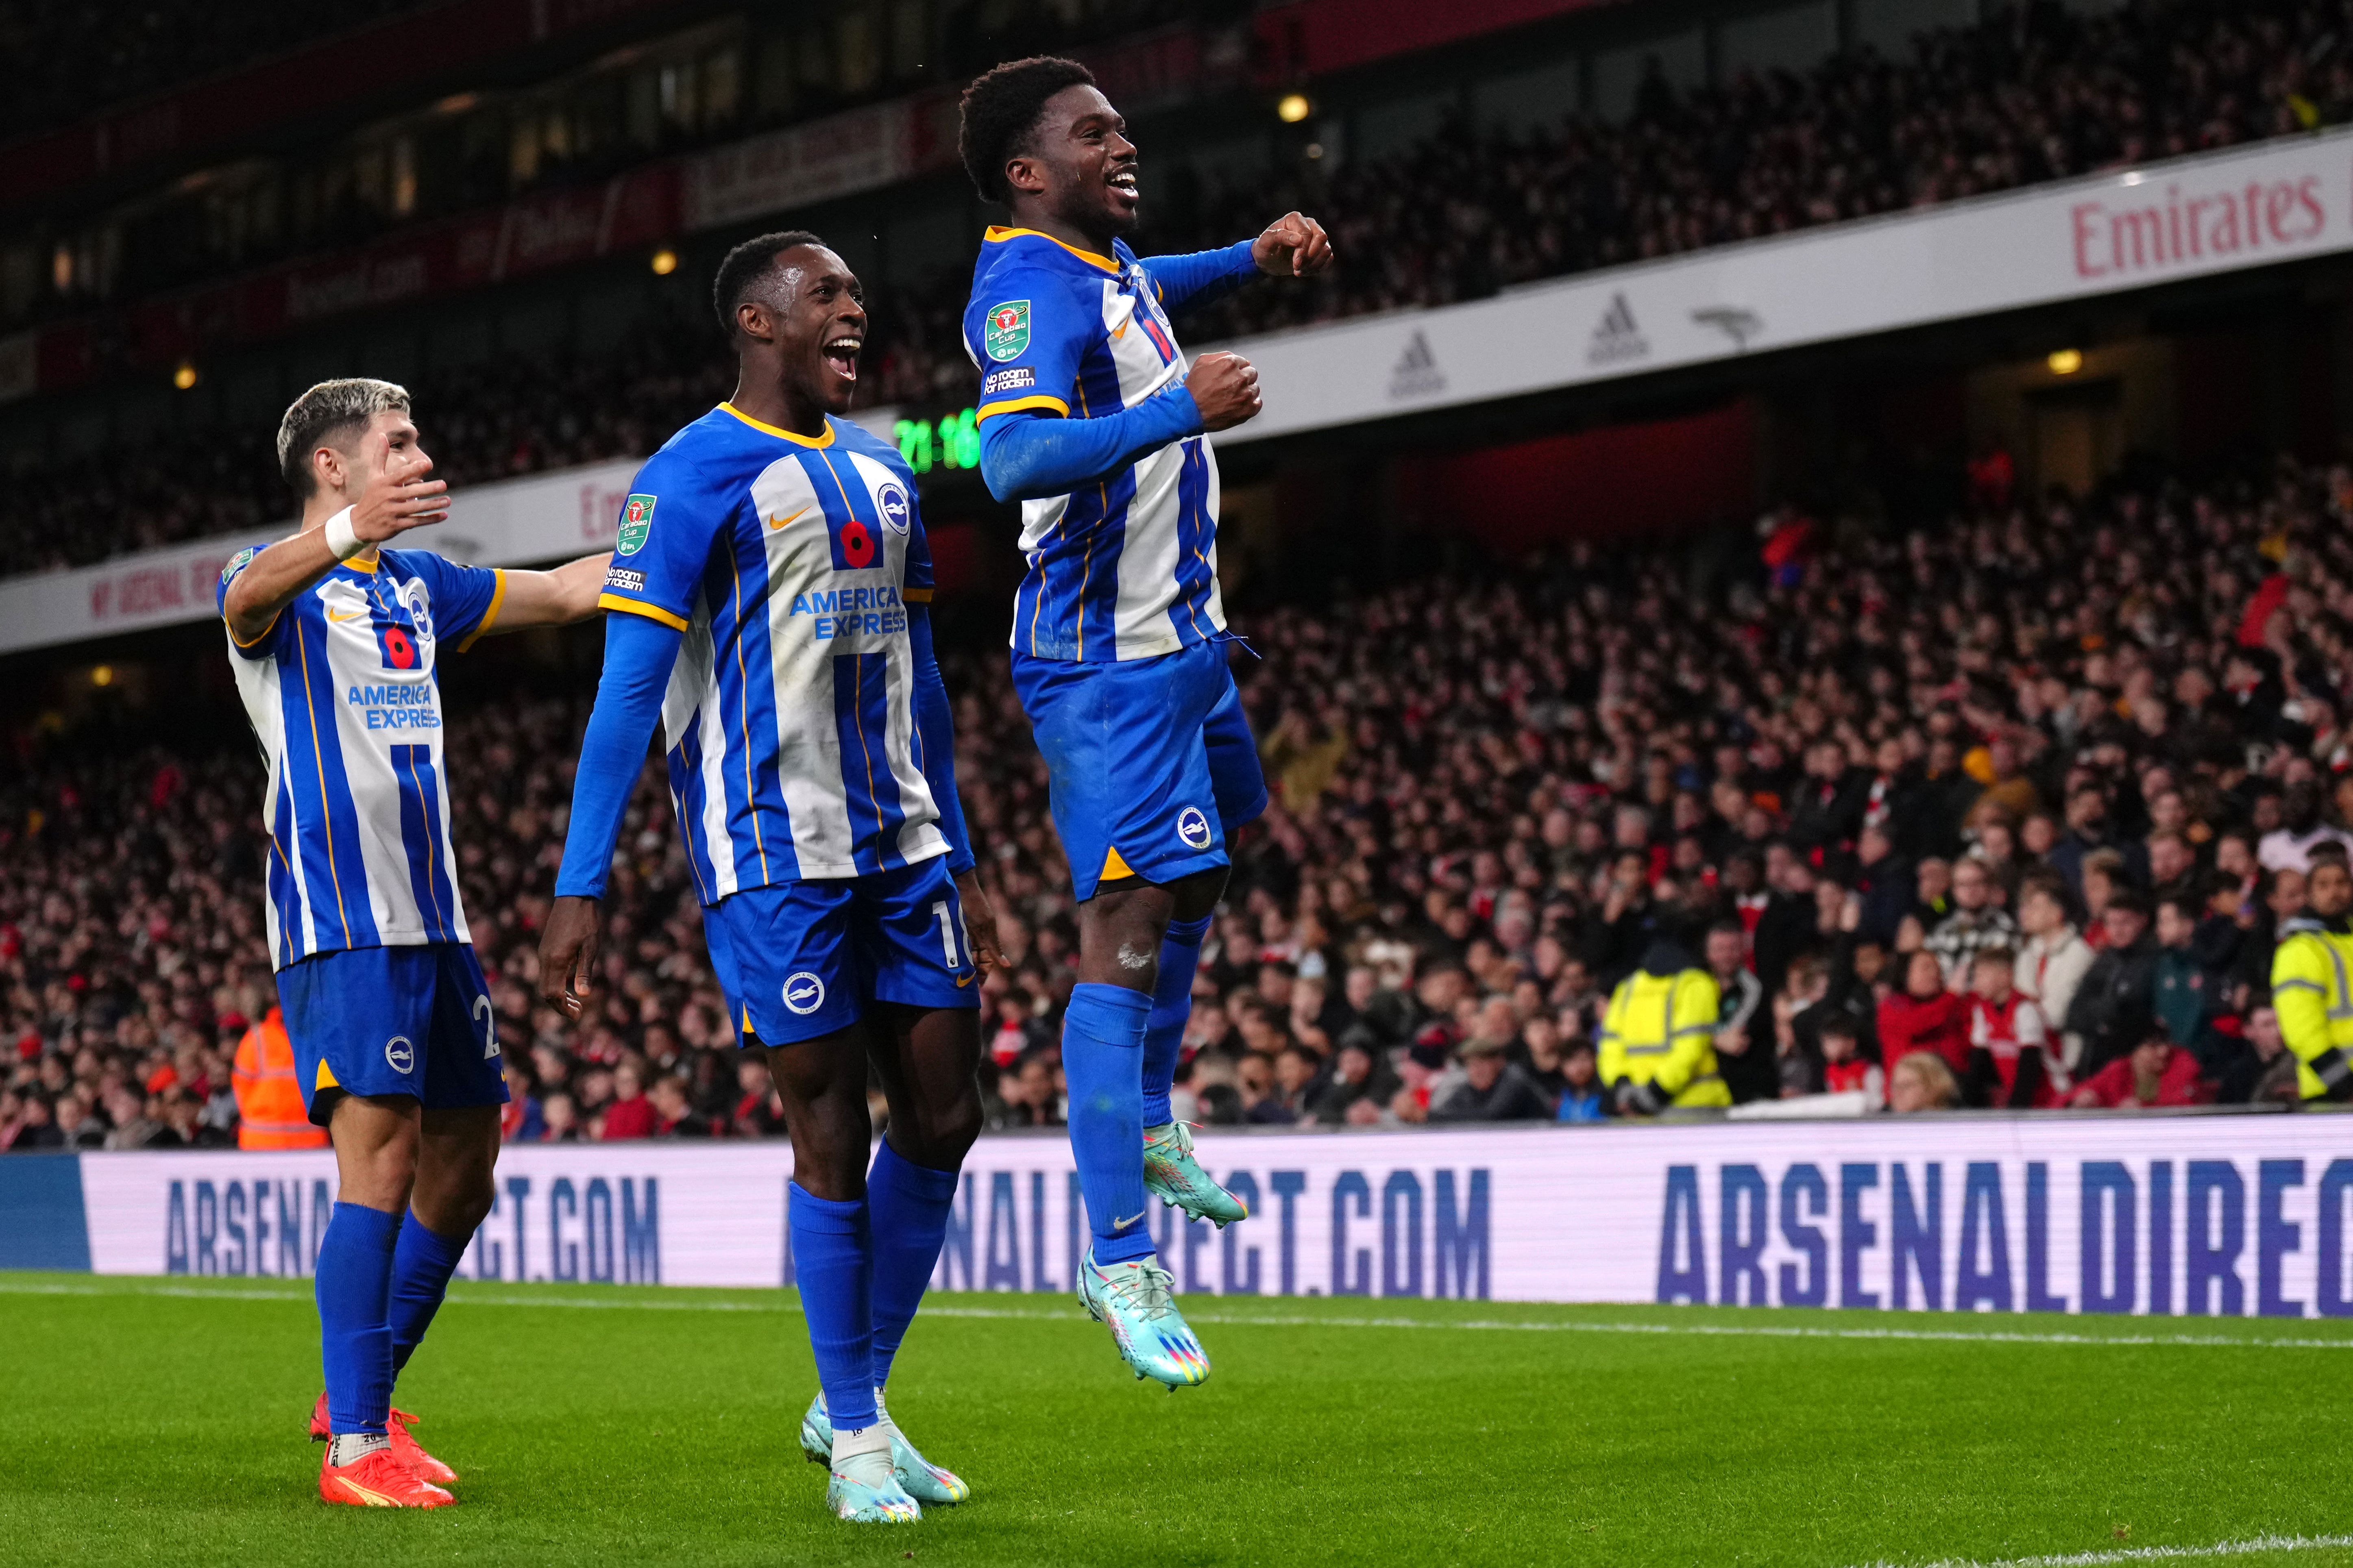
[[[2106,16],[2024,5],[1925,33],[1904,61],[1857,49],[1802,78],[1744,73],[1689,92],[1652,73],[1617,122],[1475,132],[1454,120],[1393,155],[1332,158],[1332,174],[1306,162],[1221,181],[1148,160],[1151,228],[1136,249],[1226,244],[1287,207],[1327,221],[1341,266],[1212,306],[1186,322],[1186,339],[1207,343],[2346,120],[2346,0],[2134,0]],[[969,402],[967,287],[967,270],[948,268],[925,287],[875,289],[868,404]],[[652,451],[725,395],[722,357],[694,313],[645,324],[612,353],[504,357],[412,390],[445,475],[485,480]],[[19,454],[21,505],[0,520],[0,559],[40,571],[282,517],[266,437],[141,428],[92,456]]]

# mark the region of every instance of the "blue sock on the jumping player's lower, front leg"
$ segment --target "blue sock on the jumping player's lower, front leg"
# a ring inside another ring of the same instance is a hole
[[[1061,1023],[1071,1154],[1087,1194],[1096,1262],[1153,1255],[1144,1225],[1144,1020],[1153,999],[1125,985],[1073,985]]]

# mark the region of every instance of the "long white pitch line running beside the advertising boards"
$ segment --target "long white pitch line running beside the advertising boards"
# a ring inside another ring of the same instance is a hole
[[[464,1284],[464,1281],[459,1281]],[[254,1288],[198,1288],[198,1286],[146,1286],[146,1284],[122,1284],[122,1286],[68,1286],[68,1284],[16,1284],[0,1279],[0,1295],[169,1295],[184,1300],[271,1300],[271,1302],[306,1302],[308,1291],[254,1291]],[[649,1298],[621,1298],[621,1300],[598,1300],[598,1298],[567,1298],[567,1295],[482,1295],[466,1291],[449,1298],[452,1307],[555,1307],[567,1312],[786,1312],[800,1314],[800,1307],[786,1300],[776,1302],[744,1302],[744,1300],[649,1300]],[[960,1316],[960,1319],[1002,1319],[1002,1321],[1026,1321],[1026,1324],[1078,1324],[1085,1321],[1082,1312],[1026,1312],[1019,1307],[955,1307],[934,1305],[922,1307],[927,1316]],[[1440,1331],[1506,1331],[1506,1333],[1652,1333],[1652,1335],[1697,1335],[1697,1338],[1725,1338],[1725,1340],[1897,1340],[1897,1342],[1927,1342],[1927,1345],[2120,1345],[2120,1347],[2205,1347],[2205,1349],[2353,1349],[2353,1335],[2318,1340],[2318,1338],[2273,1338],[2273,1335],[2226,1335],[2226,1333],[2021,1333],[2021,1331],[1988,1331],[1969,1333],[1965,1328],[1809,1328],[1802,1324],[1612,1324],[1612,1321],[1567,1321],[1567,1324],[1539,1324],[1539,1321],[1515,1321],[1515,1319],[1464,1319],[1457,1324],[1428,1321],[1412,1316],[1308,1316],[1308,1314],[1259,1314],[1259,1312],[1191,1312],[1186,1314],[1193,1324],[1221,1324],[1233,1328],[1440,1328]],[[2118,1559],[2127,1561],[2127,1559]],[[1925,1566],[1941,1568],[1941,1566]],[[1991,1568],[1991,1566],[1988,1566]]]

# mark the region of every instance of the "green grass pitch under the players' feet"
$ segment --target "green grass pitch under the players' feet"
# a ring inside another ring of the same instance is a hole
[[[1217,1375],[1169,1396],[1061,1298],[929,1298],[892,1410],[976,1495],[861,1528],[795,1443],[788,1293],[456,1286],[398,1399],[461,1505],[386,1514],[318,1502],[306,1288],[0,1274],[0,1561],[1845,1568],[2353,1528],[2339,1324],[1191,1305]],[[1753,1333],[1788,1328],[2231,1342]]]

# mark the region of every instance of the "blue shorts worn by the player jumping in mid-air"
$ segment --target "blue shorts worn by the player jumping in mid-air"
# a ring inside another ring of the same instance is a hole
[[[1167,884],[1226,865],[1226,835],[1266,811],[1221,642],[1094,665],[1014,654],[1014,691],[1080,903],[1101,882]]]

